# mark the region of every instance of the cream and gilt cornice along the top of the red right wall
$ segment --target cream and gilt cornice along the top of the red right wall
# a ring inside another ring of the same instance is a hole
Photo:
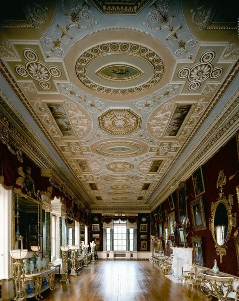
[[[192,148],[187,158],[178,168],[178,170],[181,170],[181,172],[174,175],[154,199],[151,204],[152,210],[154,210],[158,205],[157,202],[159,199],[165,199],[165,195],[169,194],[169,190],[172,185],[174,186],[182,179],[187,179],[187,177],[189,177],[190,174],[192,174],[192,172],[200,165],[200,162],[202,162],[202,160],[209,160],[215,154],[215,151],[217,149],[215,149],[215,145],[218,144],[217,142],[221,140],[221,138],[224,137],[227,133],[230,133],[229,130],[237,124],[239,120],[239,112],[235,109],[239,104],[239,97],[237,97],[236,99],[234,99],[234,97],[238,94],[238,92],[239,88],[230,97],[229,101],[218,115],[218,118],[216,118],[212,122],[211,127],[209,127],[209,129],[204,132],[202,137],[197,141],[195,147]],[[234,113],[233,115],[231,115],[233,111]],[[175,187],[173,189],[175,189]]]

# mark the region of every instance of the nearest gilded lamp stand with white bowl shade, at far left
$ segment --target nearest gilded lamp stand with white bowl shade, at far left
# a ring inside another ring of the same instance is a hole
[[[23,301],[26,299],[26,279],[23,258],[27,256],[27,249],[10,250],[10,255],[15,259],[13,278],[16,287],[14,300]]]

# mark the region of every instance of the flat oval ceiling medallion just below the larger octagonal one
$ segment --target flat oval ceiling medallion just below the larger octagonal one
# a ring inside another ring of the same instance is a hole
[[[144,152],[144,147],[131,141],[107,141],[96,146],[96,152],[114,158],[134,157]]]

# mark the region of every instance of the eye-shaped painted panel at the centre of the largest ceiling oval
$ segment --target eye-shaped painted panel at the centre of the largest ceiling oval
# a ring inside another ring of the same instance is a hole
[[[143,71],[126,64],[114,64],[104,66],[103,68],[100,68],[98,71],[96,71],[96,73],[97,75],[105,79],[121,82],[136,79],[143,74]]]

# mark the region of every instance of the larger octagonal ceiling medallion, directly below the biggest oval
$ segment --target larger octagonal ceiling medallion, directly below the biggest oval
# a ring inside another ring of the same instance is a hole
[[[141,117],[130,109],[110,109],[98,119],[100,128],[111,135],[128,135],[141,124]]]

